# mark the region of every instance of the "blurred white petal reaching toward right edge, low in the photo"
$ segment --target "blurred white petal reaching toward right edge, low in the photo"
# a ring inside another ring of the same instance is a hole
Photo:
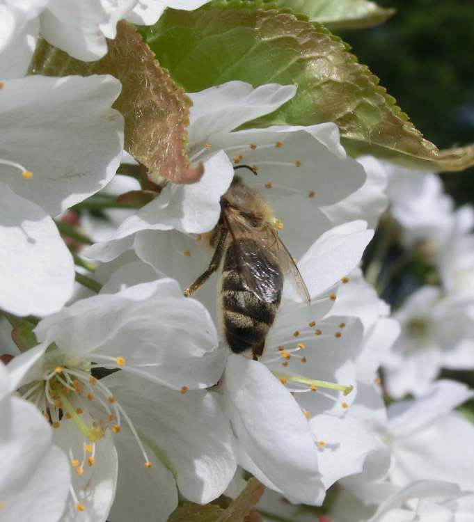
[[[402,401],[388,407],[388,429],[393,436],[407,436],[434,422],[443,413],[473,397],[474,391],[457,381],[441,380],[418,400]]]

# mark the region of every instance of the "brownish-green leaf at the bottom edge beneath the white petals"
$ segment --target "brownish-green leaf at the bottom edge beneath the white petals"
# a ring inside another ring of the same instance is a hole
[[[244,491],[226,509],[213,504],[184,503],[175,509],[168,522],[244,522],[263,492],[262,484],[251,478]]]

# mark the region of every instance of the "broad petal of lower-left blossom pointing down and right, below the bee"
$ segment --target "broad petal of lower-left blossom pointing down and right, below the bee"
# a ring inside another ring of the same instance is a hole
[[[104,379],[158,459],[171,469],[180,493],[209,503],[228,487],[235,470],[232,433],[216,395],[179,393],[154,383]]]

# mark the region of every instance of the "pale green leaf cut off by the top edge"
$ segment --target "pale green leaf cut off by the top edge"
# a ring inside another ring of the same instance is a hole
[[[229,0],[214,0],[211,5],[219,6],[226,1]],[[383,8],[368,0],[260,0],[253,3],[255,6],[268,4],[289,8],[293,13],[306,15],[312,22],[324,24],[331,30],[362,29],[381,24],[395,14],[395,9]]]

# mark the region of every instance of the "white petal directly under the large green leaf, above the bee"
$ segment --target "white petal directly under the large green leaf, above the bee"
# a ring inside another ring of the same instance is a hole
[[[242,123],[271,113],[297,92],[292,85],[262,85],[256,89],[244,81],[189,93],[193,102],[189,113],[189,143],[205,143],[216,132],[230,132]]]

